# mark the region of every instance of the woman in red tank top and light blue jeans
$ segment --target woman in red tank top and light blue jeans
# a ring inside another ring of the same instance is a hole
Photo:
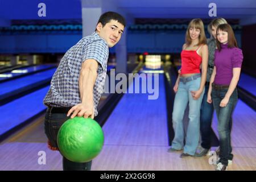
[[[188,24],[185,44],[181,52],[181,72],[177,77],[174,91],[172,123],[175,131],[169,152],[183,150],[181,158],[195,155],[200,136],[200,107],[207,77],[208,47],[201,19]],[[201,73],[200,73],[200,67]],[[183,116],[189,105],[189,123],[184,145]]]

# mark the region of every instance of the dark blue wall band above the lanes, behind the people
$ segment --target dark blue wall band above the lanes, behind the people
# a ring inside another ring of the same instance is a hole
[[[169,29],[164,30],[167,26]],[[180,53],[186,29],[187,24],[135,24],[127,27],[127,52]],[[238,46],[241,47],[241,30],[238,28],[234,31]],[[0,53],[65,53],[81,38],[81,24],[13,25],[0,28]],[[115,48],[110,49],[110,52],[114,53]]]

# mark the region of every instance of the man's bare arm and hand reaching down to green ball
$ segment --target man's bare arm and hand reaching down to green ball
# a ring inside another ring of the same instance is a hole
[[[79,77],[79,92],[81,104],[73,106],[67,116],[71,113],[71,118],[76,115],[84,118],[94,118],[93,86],[97,78],[98,62],[94,59],[88,59],[82,63]]]

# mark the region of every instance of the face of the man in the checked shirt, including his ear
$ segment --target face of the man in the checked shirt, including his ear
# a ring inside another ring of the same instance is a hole
[[[97,32],[101,38],[106,40],[109,47],[115,46],[118,41],[121,39],[123,29],[125,27],[117,22],[117,20],[110,20],[109,23],[106,23],[104,27],[102,27],[101,23],[97,24]]]

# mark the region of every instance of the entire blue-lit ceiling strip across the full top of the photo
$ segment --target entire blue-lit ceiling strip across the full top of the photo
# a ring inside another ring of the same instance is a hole
[[[0,0],[1,20],[81,19],[81,1],[88,7],[118,9],[131,19],[191,19],[209,17],[209,4],[215,3],[217,16],[228,19],[256,19],[255,0]],[[38,17],[38,3],[46,3],[46,17]],[[85,7],[85,6],[83,6]],[[115,7],[115,8],[114,8]]]

